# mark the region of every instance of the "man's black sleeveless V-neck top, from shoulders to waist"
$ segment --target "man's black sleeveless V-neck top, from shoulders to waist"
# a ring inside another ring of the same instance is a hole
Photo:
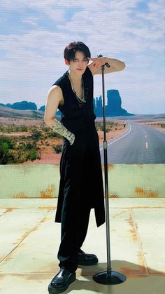
[[[59,105],[58,109],[62,112],[61,122],[71,132],[79,133],[87,130],[89,123],[94,123],[96,115],[94,114],[94,95],[93,95],[93,76],[87,67],[82,74],[84,83],[85,100],[83,106],[80,107],[76,94],[71,88],[68,71],[63,74],[52,86],[57,85],[62,89],[64,97],[64,105]]]

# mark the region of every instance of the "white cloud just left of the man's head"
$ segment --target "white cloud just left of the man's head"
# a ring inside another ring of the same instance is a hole
[[[79,34],[73,34],[76,39],[80,39]],[[67,33],[49,32],[41,29],[31,30],[27,34],[0,35],[1,49],[6,51],[6,57],[16,60],[19,57],[28,58],[44,55],[61,55],[62,50],[71,35]],[[35,51],[33,51],[35,49]],[[30,51],[31,50],[31,51]]]

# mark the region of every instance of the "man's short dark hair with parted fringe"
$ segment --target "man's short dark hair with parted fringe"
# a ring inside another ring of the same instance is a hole
[[[64,49],[64,58],[68,61],[75,59],[76,51],[81,51],[84,53],[85,58],[91,57],[91,53],[89,48],[82,42],[71,42],[69,45],[66,46]]]

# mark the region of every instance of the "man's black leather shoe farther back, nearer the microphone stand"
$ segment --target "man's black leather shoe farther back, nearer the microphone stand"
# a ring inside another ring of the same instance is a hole
[[[94,254],[87,254],[81,249],[78,250],[78,265],[96,265],[98,258]]]

